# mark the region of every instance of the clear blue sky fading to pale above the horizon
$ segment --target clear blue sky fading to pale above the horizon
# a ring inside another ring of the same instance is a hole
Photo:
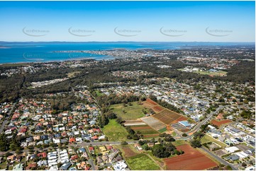
[[[0,41],[255,42],[255,1],[0,1]]]

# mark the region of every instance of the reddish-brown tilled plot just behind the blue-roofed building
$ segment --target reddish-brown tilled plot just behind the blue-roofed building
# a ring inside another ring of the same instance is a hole
[[[186,120],[185,117],[182,117],[182,115],[173,112],[171,110],[162,110],[162,112],[159,112],[157,114],[154,114],[153,117],[159,119],[161,122],[164,122],[165,124],[171,124],[175,120],[179,119],[180,120]]]

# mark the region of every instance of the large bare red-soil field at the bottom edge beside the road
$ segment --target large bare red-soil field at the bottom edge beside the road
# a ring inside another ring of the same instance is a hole
[[[206,170],[217,166],[217,163],[188,144],[177,146],[177,150],[184,151],[184,154],[165,158],[167,170]]]

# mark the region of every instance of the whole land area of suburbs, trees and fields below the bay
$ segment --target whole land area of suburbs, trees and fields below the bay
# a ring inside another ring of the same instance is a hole
[[[1,170],[255,170],[255,47],[0,65]]]

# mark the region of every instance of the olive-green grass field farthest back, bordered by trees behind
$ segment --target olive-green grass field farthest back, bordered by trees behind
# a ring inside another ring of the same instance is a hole
[[[143,105],[138,105],[138,102],[131,102],[131,105],[123,106],[123,103],[116,105],[111,105],[109,107],[118,117],[123,119],[138,119],[140,117],[145,117],[143,114]],[[148,109],[145,109],[148,112]]]

